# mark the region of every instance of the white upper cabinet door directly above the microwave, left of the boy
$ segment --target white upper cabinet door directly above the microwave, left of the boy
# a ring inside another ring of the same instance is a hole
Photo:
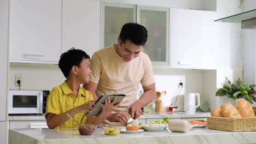
[[[10,61],[59,61],[61,3],[61,0],[10,1]]]

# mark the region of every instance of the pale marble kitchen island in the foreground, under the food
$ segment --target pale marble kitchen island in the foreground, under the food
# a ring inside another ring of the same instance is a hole
[[[104,135],[97,128],[95,135],[80,135],[78,129],[9,129],[9,144],[13,143],[256,143],[256,131],[230,132],[193,128],[188,133],[143,131],[118,136]]]

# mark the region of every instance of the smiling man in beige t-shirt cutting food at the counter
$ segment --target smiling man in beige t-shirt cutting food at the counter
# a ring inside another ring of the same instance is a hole
[[[92,75],[84,88],[92,93],[94,99],[105,93],[126,95],[107,117],[109,122],[125,124],[130,117],[137,119],[141,116],[141,108],[155,97],[152,64],[142,51],[147,38],[145,27],[126,23],[118,36],[118,44],[95,52],[91,58]],[[139,83],[144,93],[136,101]]]

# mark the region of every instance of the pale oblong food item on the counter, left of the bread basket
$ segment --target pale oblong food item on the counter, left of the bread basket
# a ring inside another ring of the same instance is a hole
[[[171,119],[168,128],[173,132],[185,133],[189,131],[189,122],[185,120]]]

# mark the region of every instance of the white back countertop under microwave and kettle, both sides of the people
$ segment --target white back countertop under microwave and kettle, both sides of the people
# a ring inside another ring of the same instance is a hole
[[[143,113],[141,117],[143,118],[203,118],[211,116],[210,112],[196,112],[194,114],[185,112],[153,112],[153,113]],[[43,121],[45,120],[44,115],[23,115],[23,116],[9,116],[9,121]]]

